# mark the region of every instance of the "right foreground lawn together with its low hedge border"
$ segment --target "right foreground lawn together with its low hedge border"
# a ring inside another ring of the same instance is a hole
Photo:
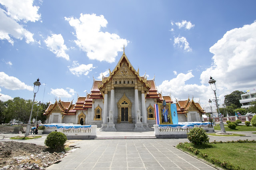
[[[255,143],[208,143],[199,146],[192,143],[181,143],[176,147],[204,158],[210,163],[218,164],[224,169],[256,170]]]

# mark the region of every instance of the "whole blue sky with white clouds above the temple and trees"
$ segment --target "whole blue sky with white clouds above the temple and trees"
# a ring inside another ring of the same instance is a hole
[[[256,87],[256,2],[0,0],[0,100],[90,93],[123,53],[172,99],[220,103]],[[45,85],[46,84],[46,85]],[[45,89],[45,91],[44,91]]]

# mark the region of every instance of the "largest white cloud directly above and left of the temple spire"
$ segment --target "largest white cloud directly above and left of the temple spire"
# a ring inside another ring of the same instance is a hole
[[[87,53],[89,59],[98,61],[115,61],[118,51],[123,50],[123,45],[127,45],[126,39],[120,38],[117,34],[100,31],[108,24],[103,15],[80,14],[80,18],[67,18],[70,24],[76,30],[76,45]]]

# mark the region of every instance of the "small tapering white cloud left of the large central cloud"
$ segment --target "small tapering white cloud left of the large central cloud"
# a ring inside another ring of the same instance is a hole
[[[69,60],[69,55],[66,54],[68,48],[64,44],[64,39],[61,34],[52,34],[52,36],[48,36],[44,42],[50,51],[56,54],[56,57],[63,57],[64,59]]]

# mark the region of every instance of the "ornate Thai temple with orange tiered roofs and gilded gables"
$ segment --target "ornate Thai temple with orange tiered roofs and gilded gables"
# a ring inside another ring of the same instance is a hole
[[[90,94],[72,101],[55,101],[46,109],[46,123],[97,125],[102,130],[147,130],[156,124],[154,104],[173,103],[170,96],[158,93],[153,79],[139,75],[123,53],[113,71],[93,81]],[[179,122],[201,122],[205,113],[189,98],[177,101]]]

